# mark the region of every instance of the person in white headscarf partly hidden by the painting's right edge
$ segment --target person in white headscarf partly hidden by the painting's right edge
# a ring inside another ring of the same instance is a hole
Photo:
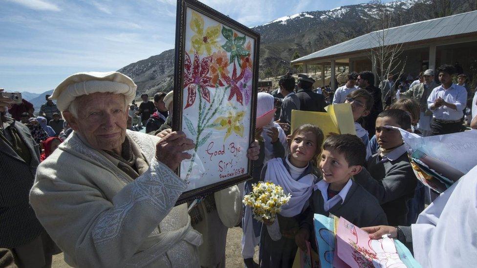
[[[263,165],[270,159],[285,156],[286,135],[279,124],[273,122],[275,114],[272,95],[259,92],[257,95],[257,123],[255,138],[259,140],[260,155],[254,161],[253,179],[245,183],[244,194],[252,191],[252,184],[260,180]],[[255,246],[260,242],[261,223],[253,218],[250,207],[245,206],[242,219],[242,256],[245,267],[253,267]]]

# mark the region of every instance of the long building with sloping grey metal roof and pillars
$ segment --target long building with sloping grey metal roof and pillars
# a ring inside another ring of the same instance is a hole
[[[386,38],[380,41],[380,37],[384,35]],[[371,63],[371,50],[383,45],[402,45],[401,57],[406,58],[405,73],[417,75],[422,70],[455,62],[459,62],[465,72],[472,57],[477,56],[477,11],[371,32],[291,63],[304,65],[305,71],[309,64],[329,65],[331,77],[335,77],[336,66],[349,66],[350,71],[375,72],[376,66]],[[322,80],[324,81],[323,72]],[[331,83],[334,81],[331,80]]]

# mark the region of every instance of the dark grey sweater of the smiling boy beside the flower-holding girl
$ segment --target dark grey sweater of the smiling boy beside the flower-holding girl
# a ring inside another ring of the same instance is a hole
[[[369,227],[378,225],[388,225],[386,214],[378,200],[366,191],[362,186],[353,182],[348,190],[343,204],[338,202],[325,211],[325,201],[320,190],[313,191],[310,197],[310,206],[306,211],[306,220],[302,222],[301,227],[309,228],[310,234],[314,234],[313,214],[322,214],[329,216],[333,214],[337,217],[343,217],[357,227]],[[310,237],[314,237],[310,235]]]

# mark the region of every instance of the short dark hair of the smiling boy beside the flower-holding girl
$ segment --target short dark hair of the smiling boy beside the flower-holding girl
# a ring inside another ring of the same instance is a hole
[[[356,135],[330,135],[323,144],[327,151],[337,151],[345,156],[348,166],[364,165],[366,161],[366,146]]]

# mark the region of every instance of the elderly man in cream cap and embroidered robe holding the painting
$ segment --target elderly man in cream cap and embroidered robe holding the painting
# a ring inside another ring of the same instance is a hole
[[[117,73],[78,73],[53,92],[74,129],[38,168],[30,203],[74,267],[197,267],[201,235],[173,170],[190,154],[182,132],[126,130],[136,85]],[[80,109],[81,107],[81,109]],[[258,157],[256,144],[248,150]]]

